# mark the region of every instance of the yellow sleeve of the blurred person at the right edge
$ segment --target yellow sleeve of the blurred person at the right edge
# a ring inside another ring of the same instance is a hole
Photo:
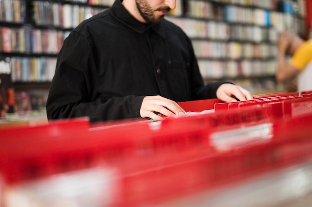
[[[306,41],[300,46],[290,60],[290,64],[296,69],[303,70],[312,60],[312,40]]]

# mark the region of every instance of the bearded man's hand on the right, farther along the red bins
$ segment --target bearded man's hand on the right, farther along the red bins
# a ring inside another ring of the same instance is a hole
[[[217,89],[217,98],[221,101],[235,102],[235,97],[240,101],[253,100],[251,93],[238,85],[224,83]]]

